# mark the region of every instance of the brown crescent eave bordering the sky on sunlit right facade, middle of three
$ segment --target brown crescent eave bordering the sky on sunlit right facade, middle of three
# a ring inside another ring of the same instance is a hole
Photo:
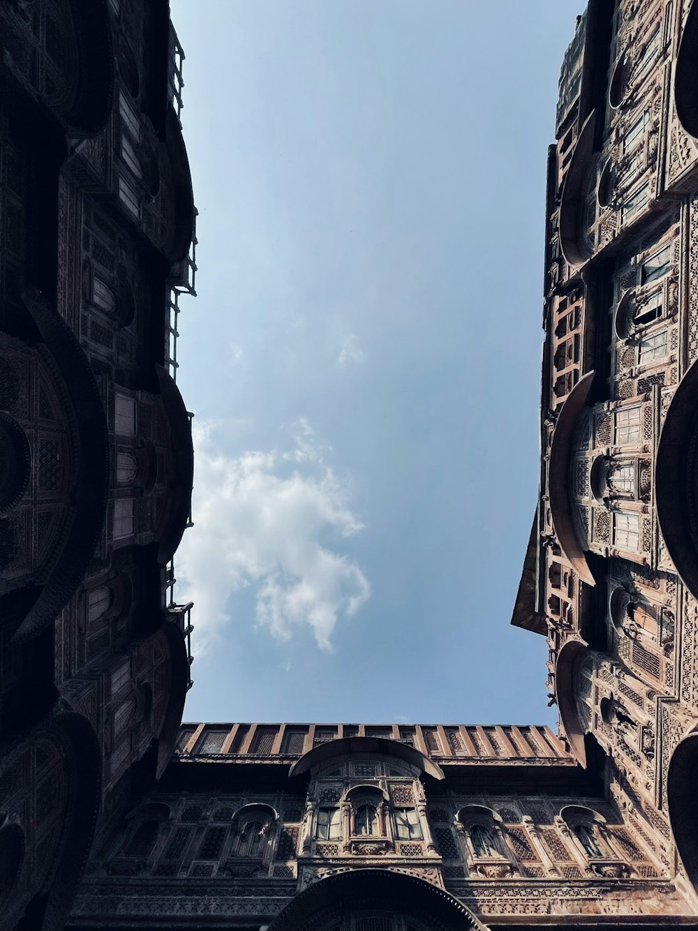
[[[589,371],[577,382],[562,405],[557,416],[557,424],[550,446],[548,465],[548,496],[550,513],[557,540],[574,571],[588,586],[595,586],[596,580],[589,569],[579,542],[574,532],[574,522],[570,513],[569,462],[574,431],[586,399],[589,397],[594,371]]]

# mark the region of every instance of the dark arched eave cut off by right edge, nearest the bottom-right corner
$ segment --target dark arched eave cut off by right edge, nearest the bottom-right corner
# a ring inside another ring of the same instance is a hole
[[[666,779],[669,823],[686,875],[698,891],[698,734],[678,743]]]

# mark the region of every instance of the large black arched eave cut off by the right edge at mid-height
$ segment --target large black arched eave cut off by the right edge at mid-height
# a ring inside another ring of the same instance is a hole
[[[693,362],[671,399],[659,435],[654,493],[666,549],[694,598],[698,598],[697,477],[698,362]]]

